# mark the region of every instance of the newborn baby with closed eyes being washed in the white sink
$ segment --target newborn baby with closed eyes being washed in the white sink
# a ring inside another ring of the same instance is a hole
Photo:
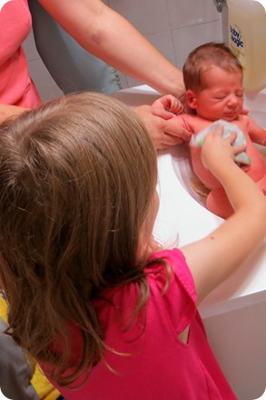
[[[266,145],[266,130],[257,125],[249,115],[243,114],[242,67],[231,50],[217,43],[207,43],[194,49],[183,66],[186,102],[195,115],[175,115],[167,124],[182,125],[192,133],[190,154],[192,168],[203,185],[210,190],[206,206],[216,215],[228,218],[233,213],[221,183],[202,165],[201,144],[214,124],[224,126],[223,136],[236,135],[235,162],[251,176],[266,195],[266,164],[253,143]],[[167,102],[166,102],[166,99]],[[153,105],[165,107],[176,104],[172,95],[156,100]],[[175,114],[179,113],[179,108]],[[194,135],[195,134],[195,135]]]

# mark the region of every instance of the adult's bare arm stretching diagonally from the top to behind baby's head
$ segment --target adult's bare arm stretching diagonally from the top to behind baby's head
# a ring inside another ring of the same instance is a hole
[[[162,94],[184,94],[182,72],[100,0],[39,0],[89,53]]]

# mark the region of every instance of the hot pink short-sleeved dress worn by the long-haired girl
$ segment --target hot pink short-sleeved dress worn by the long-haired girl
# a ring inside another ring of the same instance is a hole
[[[172,267],[171,284],[162,294],[165,268],[153,266],[147,275],[151,295],[142,320],[124,332],[121,316],[130,322],[138,285],[124,285],[104,293],[96,310],[105,332],[105,342],[118,352],[106,352],[85,385],[74,391],[58,387],[67,400],[230,400],[236,399],[208,345],[202,320],[196,311],[191,272],[180,250],[163,251]],[[178,335],[190,325],[189,343]],[[143,335],[141,335],[143,333]],[[75,345],[79,339],[75,337]],[[76,381],[78,384],[80,381]]]

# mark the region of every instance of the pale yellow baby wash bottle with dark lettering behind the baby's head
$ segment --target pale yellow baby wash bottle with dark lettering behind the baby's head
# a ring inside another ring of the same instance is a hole
[[[243,67],[245,90],[266,87],[266,0],[227,0],[228,45]]]

